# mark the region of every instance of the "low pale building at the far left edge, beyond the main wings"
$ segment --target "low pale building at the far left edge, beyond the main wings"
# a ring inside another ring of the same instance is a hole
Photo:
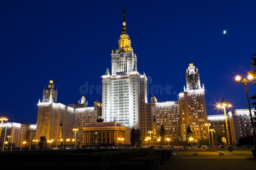
[[[16,147],[20,147],[22,142],[26,142],[25,146],[29,147],[30,141],[32,145],[33,139],[36,139],[36,124],[3,123],[1,142],[8,142],[7,136],[11,136],[9,143],[14,143]],[[22,144],[22,147],[23,146]],[[11,145],[9,145],[9,147],[11,147]]]

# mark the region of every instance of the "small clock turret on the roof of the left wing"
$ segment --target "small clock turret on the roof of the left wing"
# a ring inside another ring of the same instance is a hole
[[[48,83],[48,88],[46,89],[46,86],[44,86],[44,94],[43,94],[43,101],[42,102],[57,102],[57,87],[54,90],[54,84],[53,80],[50,80]]]

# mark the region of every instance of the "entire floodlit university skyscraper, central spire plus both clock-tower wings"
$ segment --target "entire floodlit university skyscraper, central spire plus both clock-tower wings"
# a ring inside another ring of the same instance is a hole
[[[186,130],[190,125],[194,141],[209,138],[204,85],[201,87],[198,69],[189,64],[185,73],[186,87],[179,94],[178,101],[157,102],[156,96],[147,100],[147,77],[140,74],[137,56],[131,47],[131,39],[126,33],[125,11],[123,29],[118,40],[118,49],[112,50],[111,71],[107,68],[102,75],[102,103],[97,100],[88,107],[85,98],[76,104],[57,103],[57,88],[53,81],[44,88],[43,100],[38,103],[36,138],[46,136],[47,140],[74,138],[84,143],[82,128],[86,123],[94,123],[98,118],[104,122],[117,122],[128,128],[140,128],[142,140],[151,134],[152,141],[160,136],[161,124],[171,141],[185,141]],[[93,135],[93,134],[92,134]]]

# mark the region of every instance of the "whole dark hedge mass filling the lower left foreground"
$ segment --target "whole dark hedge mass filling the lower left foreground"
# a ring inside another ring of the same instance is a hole
[[[4,155],[0,154],[0,166],[154,170],[159,169],[159,166],[170,159],[171,155],[172,150],[154,151],[153,148],[94,153],[27,152],[24,154],[24,152],[5,152]]]

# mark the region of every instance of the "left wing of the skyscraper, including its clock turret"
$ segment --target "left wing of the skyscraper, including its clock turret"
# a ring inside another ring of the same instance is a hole
[[[53,143],[60,143],[61,138],[75,138],[72,129],[78,128],[76,141],[82,144],[84,124],[96,122],[96,119],[101,117],[102,104],[96,100],[93,107],[88,107],[84,96],[77,105],[56,103],[57,88],[54,90],[53,85],[53,81],[50,80],[48,89],[44,88],[43,101],[40,102],[39,99],[38,102],[36,139],[45,136],[47,140],[53,139]]]

